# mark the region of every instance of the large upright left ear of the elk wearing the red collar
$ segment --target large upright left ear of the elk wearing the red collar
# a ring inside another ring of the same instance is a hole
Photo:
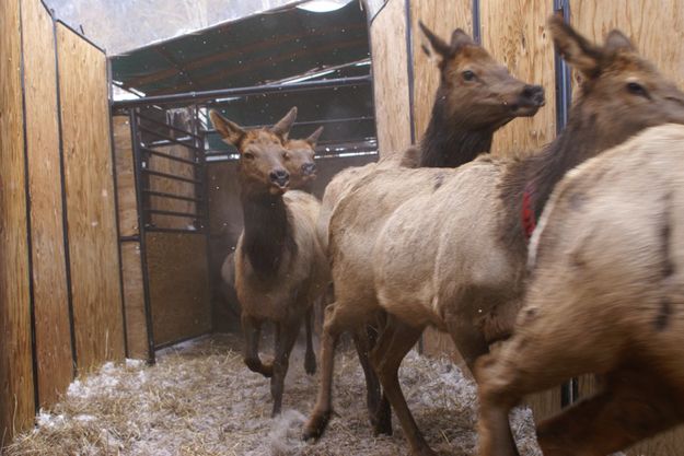
[[[598,74],[602,56],[598,47],[566,24],[561,15],[550,16],[548,28],[554,36],[556,50],[568,63],[588,78]]]

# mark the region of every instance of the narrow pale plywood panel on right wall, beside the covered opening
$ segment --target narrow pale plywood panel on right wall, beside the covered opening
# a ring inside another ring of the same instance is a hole
[[[389,0],[371,25],[375,125],[380,155],[410,145],[404,0]]]

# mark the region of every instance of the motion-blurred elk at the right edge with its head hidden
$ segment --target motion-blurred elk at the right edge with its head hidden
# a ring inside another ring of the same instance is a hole
[[[684,422],[683,160],[684,127],[654,127],[556,186],[514,335],[477,363],[482,456],[518,455],[510,408],[581,374],[601,388],[540,423],[546,456],[605,456]]]

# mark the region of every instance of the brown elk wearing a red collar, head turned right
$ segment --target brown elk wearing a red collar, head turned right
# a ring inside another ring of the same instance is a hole
[[[560,54],[584,77],[555,141],[524,160],[384,169],[357,184],[331,219],[336,302],[326,309],[322,375],[339,334],[386,311],[371,361],[414,454],[433,453],[406,406],[397,370],[422,329],[448,331],[472,370],[491,342],[510,336],[520,308],[523,209],[538,214],[567,171],[641,129],[684,121],[684,95],[622,33],[611,32],[599,47],[560,17],[548,25]],[[309,423],[314,429],[329,413],[322,406]]]

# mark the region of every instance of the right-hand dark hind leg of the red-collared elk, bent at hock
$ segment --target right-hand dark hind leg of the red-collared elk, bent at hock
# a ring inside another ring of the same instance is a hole
[[[434,453],[425,441],[408,409],[398,379],[398,369],[402,360],[404,360],[411,347],[416,344],[422,334],[422,329],[387,316],[387,324],[371,354],[371,361],[378,372],[384,394],[402,423],[406,439],[410,444],[411,453],[420,456],[433,456]]]

